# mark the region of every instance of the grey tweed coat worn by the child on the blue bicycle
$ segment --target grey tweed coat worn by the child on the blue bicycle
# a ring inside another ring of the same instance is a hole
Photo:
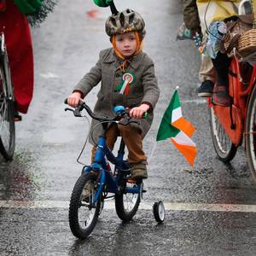
[[[103,49],[96,66],[92,67],[90,72],[86,73],[74,88],[86,96],[94,86],[102,81],[94,108],[94,113],[100,116],[113,117],[113,107],[116,105],[133,108],[142,102],[149,102],[154,109],[160,96],[157,79],[154,75],[154,62],[144,52],[135,55],[125,70],[125,73],[135,75],[135,81],[130,86],[129,95],[125,96],[115,91],[116,86],[122,81],[123,73],[118,68],[121,63],[122,61],[114,54],[113,48]],[[131,124],[142,132],[142,137],[146,135],[152,124],[153,109],[148,113],[148,119],[136,119],[138,124]],[[97,123],[96,120],[92,120],[90,133]],[[94,139],[96,140],[101,133],[102,126],[97,125],[93,131]],[[90,143],[93,144],[91,139]]]

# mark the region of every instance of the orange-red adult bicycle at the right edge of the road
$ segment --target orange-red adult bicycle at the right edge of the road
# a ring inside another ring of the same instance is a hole
[[[234,49],[235,50],[235,49]],[[256,183],[256,63],[233,57],[229,70],[230,107],[212,104],[209,112],[212,141],[219,160],[229,162],[245,140],[247,164]]]

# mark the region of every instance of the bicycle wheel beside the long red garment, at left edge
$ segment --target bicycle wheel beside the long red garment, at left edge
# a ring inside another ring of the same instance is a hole
[[[15,153],[13,91],[12,88],[7,87],[2,66],[0,66],[0,152],[5,160],[12,160]]]

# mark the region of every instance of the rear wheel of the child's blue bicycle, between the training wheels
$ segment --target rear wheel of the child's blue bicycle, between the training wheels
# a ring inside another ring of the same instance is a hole
[[[134,188],[136,186],[137,184],[135,183],[126,183],[127,189]],[[115,211],[119,218],[123,221],[130,221],[137,212],[141,198],[140,194],[120,192],[115,195],[114,201]]]

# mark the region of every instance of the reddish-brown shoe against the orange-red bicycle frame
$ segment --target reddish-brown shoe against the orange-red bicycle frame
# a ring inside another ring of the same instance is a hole
[[[222,107],[230,107],[232,99],[229,90],[224,85],[215,85],[213,89],[212,102]]]

